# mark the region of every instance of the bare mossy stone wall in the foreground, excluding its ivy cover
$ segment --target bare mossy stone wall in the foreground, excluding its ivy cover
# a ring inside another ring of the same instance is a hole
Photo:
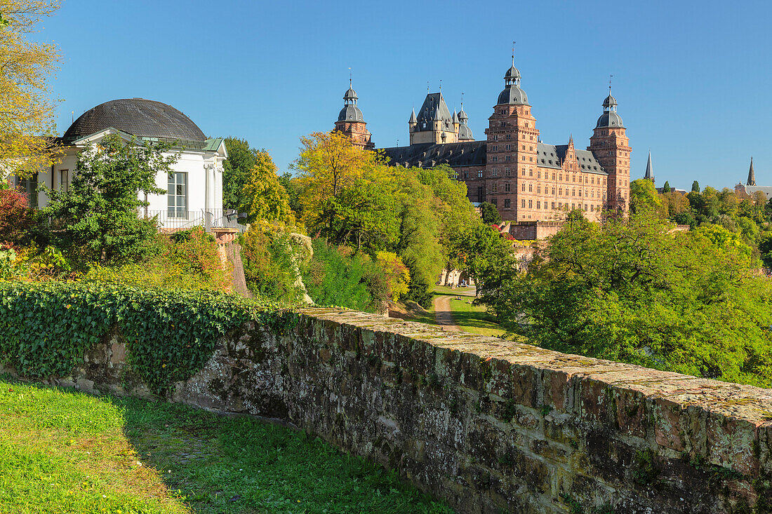
[[[124,357],[113,334],[66,385],[147,395]],[[289,422],[458,512],[770,512],[757,387],[307,309],[242,327],[169,397]]]

